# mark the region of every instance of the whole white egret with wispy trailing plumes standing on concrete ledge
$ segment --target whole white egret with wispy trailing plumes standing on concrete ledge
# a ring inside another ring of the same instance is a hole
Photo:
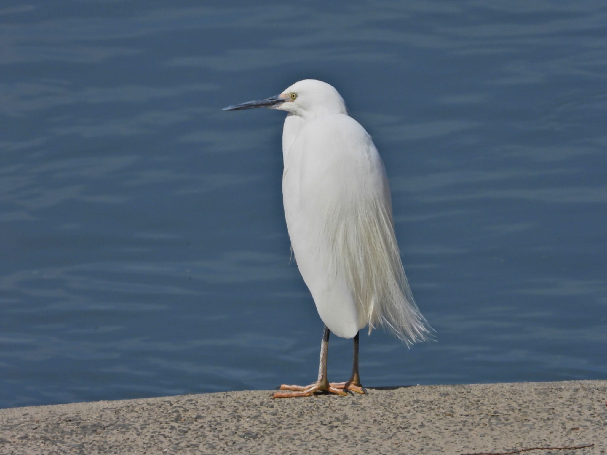
[[[305,79],[277,96],[223,110],[269,107],[288,112],[282,130],[282,198],[297,267],[325,323],[318,379],[281,385],[274,398],[324,391],[367,393],[358,374],[358,333],[385,326],[410,345],[430,327],[402,268],[384,163],[371,136],[348,115],[327,83]],[[352,375],[327,380],[329,334],[354,338]]]

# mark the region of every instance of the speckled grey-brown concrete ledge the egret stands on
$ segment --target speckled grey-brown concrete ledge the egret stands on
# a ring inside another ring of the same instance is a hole
[[[242,391],[0,409],[2,454],[460,454],[607,451],[607,381]]]

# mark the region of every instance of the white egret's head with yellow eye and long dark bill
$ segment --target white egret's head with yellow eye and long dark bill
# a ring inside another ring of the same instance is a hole
[[[293,115],[313,118],[331,113],[348,113],[344,99],[335,87],[316,79],[304,79],[288,87],[280,95],[270,98],[248,101],[247,103],[228,106],[223,110],[253,109],[270,107],[285,110]]]

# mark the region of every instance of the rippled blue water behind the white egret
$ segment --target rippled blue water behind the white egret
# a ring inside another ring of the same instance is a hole
[[[254,5],[254,6],[251,6]],[[607,5],[4,1],[0,407],[316,377],[283,114],[333,84],[387,166],[436,342],[365,385],[607,379]],[[330,342],[331,380],[351,341]]]

